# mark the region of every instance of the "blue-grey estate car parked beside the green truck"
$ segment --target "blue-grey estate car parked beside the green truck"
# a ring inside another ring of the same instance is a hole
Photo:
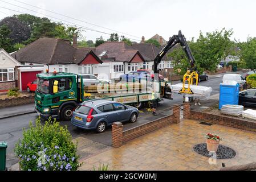
[[[78,105],[72,115],[72,125],[103,133],[113,122],[136,122],[139,110],[118,102],[95,99]]]

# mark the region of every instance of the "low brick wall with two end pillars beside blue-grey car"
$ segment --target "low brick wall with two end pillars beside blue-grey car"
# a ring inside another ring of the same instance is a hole
[[[140,125],[129,130],[123,131],[122,123],[115,122],[112,125],[112,146],[120,147],[125,142],[128,142],[129,140],[135,139],[151,131],[155,131],[162,127],[168,126],[172,123],[179,123],[179,122],[180,122],[180,105],[173,106],[172,115],[168,115],[166,117],[156,119],[155,121],[145,123],[144,125]]]

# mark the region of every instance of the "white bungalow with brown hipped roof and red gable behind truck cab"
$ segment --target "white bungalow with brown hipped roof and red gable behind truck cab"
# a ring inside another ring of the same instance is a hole
[[[38,72],[46,72],[46,69],[49,72],[94,74],[94,66],[102,63],[91,50],[75,48],[68,40],[58,38],[40,38],[11,56],[23,65],[22,69],[40,67],[40,71],[29,74],[30,80],[26,82],[33,81]],[[21,90],[26,89],[25,87],[22,85]]]

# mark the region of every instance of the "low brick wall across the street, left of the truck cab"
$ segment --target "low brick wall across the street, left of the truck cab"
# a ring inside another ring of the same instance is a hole
[[[10,107],[10,106],[18,106],[24,104],[32,104],[35,102],[34,96],[23,96],[23,97],[10,97],[5,100],[0,100],[0,108]]]

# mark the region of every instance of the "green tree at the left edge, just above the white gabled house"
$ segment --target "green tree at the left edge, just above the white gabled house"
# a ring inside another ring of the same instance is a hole
[[[6,24],[0,27],[0,48],[5,49],[6,52],[13,52],[13,46],[11,45],[12,40],[9,38],[11,33],[10,28]]]

